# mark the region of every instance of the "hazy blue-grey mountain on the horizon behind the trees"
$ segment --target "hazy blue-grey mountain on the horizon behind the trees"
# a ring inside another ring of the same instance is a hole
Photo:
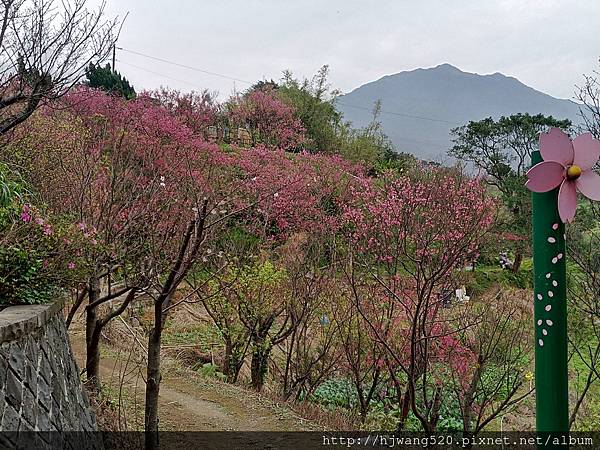
[[[378,99],[380,121],[397,150],[437,161],[448,159],[450,130],[470,120],[527,112],[580,122],[575,102],[536,91],[501,73],[479,75],[450,64],[384,76],[340,96],[337,105],[359,128],[372,120]]]

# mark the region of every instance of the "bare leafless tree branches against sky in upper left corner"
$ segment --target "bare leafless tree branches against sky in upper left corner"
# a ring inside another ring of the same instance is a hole
[[[65,95],[90,61],[106,58],[117,21],[105,20],[105,3],[86,6],[86,0],[2,1],[0,135]]]

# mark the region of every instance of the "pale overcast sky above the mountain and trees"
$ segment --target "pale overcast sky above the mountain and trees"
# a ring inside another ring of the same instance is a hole
[[[582,74],[599,67],[598,0],[107,1],[110,15],[129,11],[119,46],[240,80],[277,80],[284,69],[312,76],[328,64],[331,84],[349,92],[447,62],[572,98]],[[248,87],[120,50],[117,70],[138,91],[208,88],[223,97],[234,83]]]

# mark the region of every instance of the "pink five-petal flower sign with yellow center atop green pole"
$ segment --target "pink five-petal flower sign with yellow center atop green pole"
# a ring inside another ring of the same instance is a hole
[[[572,222],[577,209],[577,191],[600,201],[600,175],[592,168],[600,158],[600,141],[591,133],[574,140],[559,128],[540,135],[542,161],[527,172],[525,186],[533,192],[548,192],[560,186],[558,213],[563,222]]]

